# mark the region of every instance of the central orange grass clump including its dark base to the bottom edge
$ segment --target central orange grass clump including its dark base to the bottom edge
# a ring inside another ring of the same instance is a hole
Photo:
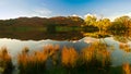
[[[63,47],[61,51],[61,66],[67,70],[67,74],[78,74],[79,53],[74,48]]]

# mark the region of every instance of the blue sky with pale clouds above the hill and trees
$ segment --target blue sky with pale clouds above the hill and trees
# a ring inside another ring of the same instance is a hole
[[[0,0],[0,20],[20,16],[131,16],[131,0]]]

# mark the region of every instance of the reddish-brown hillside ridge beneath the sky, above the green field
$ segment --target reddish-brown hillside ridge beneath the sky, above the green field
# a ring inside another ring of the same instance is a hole
[[[1,26],[47,26],[50,24],[64,26],[81,26],[84,20],[79,16],[56,16],[56,17],[19,17],[10,20],[0,20]]]

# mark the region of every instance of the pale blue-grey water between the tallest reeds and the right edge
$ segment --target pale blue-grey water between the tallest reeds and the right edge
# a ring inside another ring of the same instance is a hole
[[[131,63],[131,52],[121,50],[120,41],[115,40],[112,37],[104,39],[107,45],[114,46],[114,51],[111,52],[112,65],[121,65],[124,62]],[[124,42],[123,42],[124,44]],[[131,47],[131,42],[128,41],[127,45]]]

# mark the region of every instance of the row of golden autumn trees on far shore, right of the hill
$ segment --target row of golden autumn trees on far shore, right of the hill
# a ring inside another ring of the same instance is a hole
[[[130,35],[131,17],[123,15],[111,22],[109,18],[97,18],[94,15],[88,15],[85,18],[85,25],[97,27],[99,33],[107,32],[112,35]]]

